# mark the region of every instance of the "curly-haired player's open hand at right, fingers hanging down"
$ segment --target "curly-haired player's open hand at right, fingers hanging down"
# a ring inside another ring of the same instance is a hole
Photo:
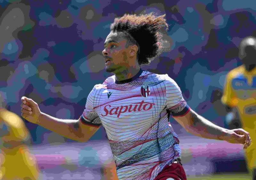
[[[244,129],[232,129],[229,130],[228,136],[225,139],[229,143],[243,144],[244,149],[251,145],[251,137]]]

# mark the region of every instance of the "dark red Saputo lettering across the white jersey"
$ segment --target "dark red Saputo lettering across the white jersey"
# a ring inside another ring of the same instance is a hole
[[[116,114],[117,117],[119,117],[121,113],[126,113],[127,111],[131,113],[131,112],[137,112],[142,110],[144,111],[150,110],[153,107],[153,105],[155,105],[155,103],[144,102],[144,100],[141,101],[140,103],[132,103],[129,106],[118,106],[118,107],[111,108],[111,105],[106,105],[104,107],[105,114],[101,114],[101,115],[107,116],[108,114],[109,115]]]

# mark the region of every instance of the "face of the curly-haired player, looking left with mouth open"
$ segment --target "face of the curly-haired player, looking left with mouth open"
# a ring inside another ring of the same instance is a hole
[[[128,53],[126,48],[127,39],[122,32],[110,32],[104,43],[102,54],[105,58],[106,71],[115,73],[129,67]]]

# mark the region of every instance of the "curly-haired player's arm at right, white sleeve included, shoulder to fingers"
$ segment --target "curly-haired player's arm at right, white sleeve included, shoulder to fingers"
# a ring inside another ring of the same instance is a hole
[[[182,97],[178,84],[167,74],[165,76],[165,89],[166,107],[171,113],[170,115],[189,133],[204,138],[244,144],[244,148],[251,144],[249,133],[244,129],[221,128],[193,111]]]

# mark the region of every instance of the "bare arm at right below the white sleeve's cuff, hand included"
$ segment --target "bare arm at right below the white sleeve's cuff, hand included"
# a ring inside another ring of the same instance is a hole
[[[183,116],[174,117],[189,133],[208,139],[225,140],[229,143],[244,144],[246,149],[251,144],[249,133],[244,129],[225,129],[206,120],[189,108]]]

